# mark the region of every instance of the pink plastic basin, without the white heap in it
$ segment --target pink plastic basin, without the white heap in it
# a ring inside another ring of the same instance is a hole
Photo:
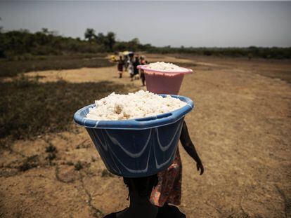
[[[145,73],[146,88],[151,93],[178,95],[184,74],[193,73],[192,69],[181,67],[181,71],[158,71],[147,65],[139,65]]]

